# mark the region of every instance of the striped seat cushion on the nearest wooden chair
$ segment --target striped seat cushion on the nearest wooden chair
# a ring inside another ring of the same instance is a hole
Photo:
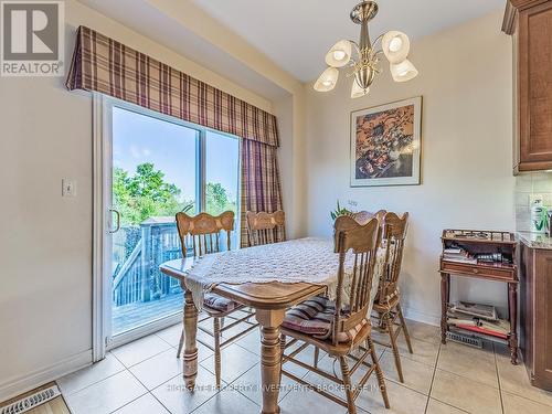
[[[328,298],[317,296],[289,309],[282,325],[284,328],[311,335],[317,339],[331,339],[335,315],[336,304]],[[352,341],[367,323],[368,320],[363,319],[347,332],[338,332],[338,342]]]

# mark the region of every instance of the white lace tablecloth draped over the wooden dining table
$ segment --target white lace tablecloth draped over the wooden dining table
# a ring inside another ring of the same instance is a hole
[[[372,284],[372,300],[378,293],[383,270],[383,250],[376,255]],[[346,256],[344,290],[350,291],[354,256]],[[336,298],[339,257],[333,253],[332,238],[298,238],[283,243],[222,252],[200,257],[185,277],[195,307],[203,307],[203,295],[221,283],[311,283],[327,287],[330,299]],[[349,295],[343,297],[348,300]],[[371,309],[370,309],[371,310]]]

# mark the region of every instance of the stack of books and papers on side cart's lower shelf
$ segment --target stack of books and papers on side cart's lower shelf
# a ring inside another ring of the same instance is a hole
[[[460,329],[507,339],[510,322],[498,318],[497,309],[490,305],[459,301],[448,309],[447,321]]]

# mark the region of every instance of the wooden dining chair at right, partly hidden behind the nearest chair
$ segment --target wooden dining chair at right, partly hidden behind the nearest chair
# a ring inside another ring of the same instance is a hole
[[[404,213],[401,217],[395,213],[385,213],[381,225],[383,234],[382,248],[385,250],[385,267],[373,306],[375,320],[378,322],[378,325],[374,325],[374,329],[389,336],[390,342],[378,340],[374,340],[374,342],[393,350],[399,380],[404,382],[401,354],[397,346],[397,338],[401,332],[404,333],[408,352],[413,353],[413,350],[408,328],[404,321],[404,315],[401,308],[399,277],[401,275],[404,240],[408,226],[408,213]]]

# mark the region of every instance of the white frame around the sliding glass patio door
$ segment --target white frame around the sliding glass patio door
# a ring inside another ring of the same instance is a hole
[[[146,326],[112,337],[112,288],[110,288],[110,255],[112,240],[106,237],[107,232],[113,229],[112,214],[107,211],[112,206],[110,191],[113,174],[113,137],[112,137],[112,108],[114,106],[150,115],[157,119],[167,120],[199,132],[199,145],[197,148],[197,177],[200,185],[197,185],[197,209],[203,211],[205,205],[205,146],[206,132],[213,131],[217,135],[227,136],[238,141],[238,155],[242,153],[242,139],[235,135],[219,131],[174,118],[151,109],[147,109],[117,98],[99,93],[93,93],[93,306],[92,306],[92,353],[93,362],[105,358],[107,351],[160,329],[173,326],[182,320],[182,311],[160,318]],[[236,214],[236,229],[240,232],[241,212],[241,170],[242,160],[238,156],[238,178],[236,201],[238,213]],[[237,236],[240,242],[240,236]],[[238,247],[238,246],[237,246]]]

